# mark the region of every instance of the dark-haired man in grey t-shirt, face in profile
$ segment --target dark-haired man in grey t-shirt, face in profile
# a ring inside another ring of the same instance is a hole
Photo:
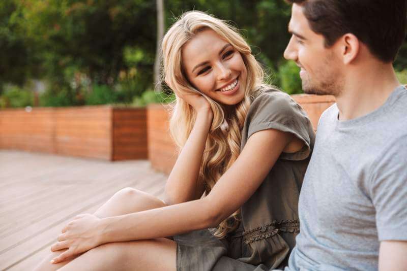
[[[289,0],[286,59],[331,94],[300,194],[286,270],[407,270],[407,89],[392,62],[405,0]]]

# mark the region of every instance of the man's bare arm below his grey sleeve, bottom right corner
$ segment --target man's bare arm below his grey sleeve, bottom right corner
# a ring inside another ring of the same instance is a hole
[[[379,270],[407,270],[407,241],[380,243]]]

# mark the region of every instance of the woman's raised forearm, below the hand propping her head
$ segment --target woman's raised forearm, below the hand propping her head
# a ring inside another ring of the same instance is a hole
[[[199,168],[212,118],[210,108],[197,113],[194,127],[168,177],[165,186],[167,203],[177,204],[196,198]]]

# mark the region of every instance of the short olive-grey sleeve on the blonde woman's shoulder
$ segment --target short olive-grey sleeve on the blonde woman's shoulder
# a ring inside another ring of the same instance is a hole
[[[281,91],[265,92],[253,101],[248,112],[248,134],[260,130],[276,129],[293,133],[304,147],[295,153],[282,153],[286,160],[303,160],[311,153],[314,139],[312,124],[305,111],[288,94]]]

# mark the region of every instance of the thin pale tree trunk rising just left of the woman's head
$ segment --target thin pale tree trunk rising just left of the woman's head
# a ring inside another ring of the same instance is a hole
[[[154,61],[154,84],[156,92],[161,91],[160,84],[160,62],[161,62],[161,41],[164,36],[164,0],[156,0],[157,4],[157,48]]]

